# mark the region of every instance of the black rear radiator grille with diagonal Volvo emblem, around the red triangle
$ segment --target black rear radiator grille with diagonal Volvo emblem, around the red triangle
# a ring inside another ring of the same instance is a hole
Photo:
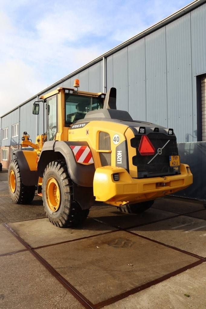
[[[142,135],[136,135],[135,138],[131,139],[131,146],[136,148],[136,155],[132,158],[132,163],[138,167],[138,177],[154,176],[157,174],[175,174],[176,171],[174,168],[170,167],[169,156],[178,155],[176,136],[166,135],[164,133],[149,133],[147,136],[155,147],[154,155],[157,154],[158,148],[162,148],[168,140],[170,140],[170,142],[162,149],[162,154],[157,155],[152,162],[148,164],[154,155],[140,155],[138,148]]]

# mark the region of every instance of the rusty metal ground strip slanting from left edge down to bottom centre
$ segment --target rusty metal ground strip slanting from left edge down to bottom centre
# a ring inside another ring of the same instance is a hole
[[[20,243],[22,243],[26,248],[28,248],[29,252],[86,308],[86,309],[94,309],[93,304],[82,295],[74,286],[72,286],[64,277],[62,277],[46,260],[44,260],[36,251],[34,251],[28,243],[24,241],[10,226],[6,223],[3,224],[7,230],[14,235]]]

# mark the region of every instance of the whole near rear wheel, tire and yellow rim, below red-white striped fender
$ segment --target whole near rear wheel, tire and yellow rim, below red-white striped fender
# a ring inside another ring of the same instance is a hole
[[[65,161],[52,161],[44,171],[42,197],[49,221],[58,227],[72,227],[82,224],[89,209],[82,210],[74,201],[73,183]]]

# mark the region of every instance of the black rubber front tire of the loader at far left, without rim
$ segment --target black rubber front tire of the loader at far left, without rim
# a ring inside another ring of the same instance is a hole
[[[9,186],[9,174],[11,170],[14,171],[15,178],[16,178],[16,189],[14,193],[11,192],[11,189]],[[33,201],[36,186],[25,186],[22,183],[19,164],[17,162],[17,159],[13,159],[9,165],[8,187],[9,187],[9,194],[10,194],[11,200],[15,204],[30,204]]]

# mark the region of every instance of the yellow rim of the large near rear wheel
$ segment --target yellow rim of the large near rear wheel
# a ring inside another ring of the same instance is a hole
[[[49,178],[46,183],[46,201],[51,211],[55,212],[59,209],[61,193],[59,184],[53,177]]]

